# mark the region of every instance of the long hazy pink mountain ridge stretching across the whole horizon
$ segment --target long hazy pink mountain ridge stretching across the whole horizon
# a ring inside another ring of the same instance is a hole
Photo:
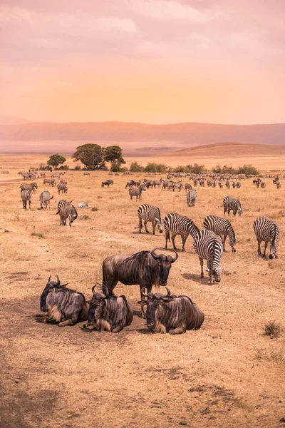
[[[239,141],[285,145],[285,123],[269,125],[214,125],[211,123],[3,123],[0,118],[0,151],[72,152],[84,143],[118,144],[124,154],[143,156],[212,143]]]

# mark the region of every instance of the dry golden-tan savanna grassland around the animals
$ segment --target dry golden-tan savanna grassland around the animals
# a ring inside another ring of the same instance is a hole
[[[39,311],[49,275],[57,273],[90,297],[105,257],[155,247],[164,252],[165,235],[138,234],[140,202],[130,201],[128,176],[67,171],[67,199],[98,208],[78,209],[88,217],[72,228],[59,226],[56,204],[65,196],[56,188],[46,186],[54,195],[50,210],[38,209],[42,179],[32,209],[23,210],[16,173],[41,161],[46,156],[0,156],[0,166],[10,170],[0,174],[1,428],[284,427],[284,333],[273,339],[263,333],[272,320],[285,327],[285,185],[277,190],[266,179],[265,189],[252,180],[229,191],[198,188],[195,208],[187,207],[184,190],[142,193],[141,203],[158,205],[162,216],[188,215],[199,228],[206,215],[222,216],[225,195],[239,198],[244,215],[230,217],[239,234],[237,253],[229,252],[227,242],[222,281],[212,287],[199,277],[191,237],[172,265],[168,286],[204,311],[200,330],[178,336],[148,332],[138,317],[138,285],[118,285],[115,292],[130,300],[135,317],[112,335],[83,332],[80,325],[44,325],[28,315]],[[114,185],[101,188],[108,178]],[[279,260],[257,255],[252,224],[259,215],[279,224]]]

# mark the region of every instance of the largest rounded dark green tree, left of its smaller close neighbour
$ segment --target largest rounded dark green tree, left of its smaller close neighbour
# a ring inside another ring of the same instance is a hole
[[[83,144],[83,146],[76,147],[76,152],[73,153],[72,158],[74,162],[81,161],[83,165],[89,170],[99,169],[104,165],[104,151],[98,144]]]

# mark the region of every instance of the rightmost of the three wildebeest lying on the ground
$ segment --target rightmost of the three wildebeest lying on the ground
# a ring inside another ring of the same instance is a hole
[[[166,287],[167,295],[152,292],[142,295],[147,301],[138,302],[147,305],[147,327],[156,333],[180,335],[186,330],[198,330],[204,322],[202,310],[187,296],[172,296]]]

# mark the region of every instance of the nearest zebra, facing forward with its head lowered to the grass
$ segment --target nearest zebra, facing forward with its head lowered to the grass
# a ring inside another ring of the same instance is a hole
[[[212,230],[202,229],[195,236],[193,245],[199,256],[201,277],[204,277],[203,265],[204,260],[207,260],[210,285],[212,285],[212,277],[214,277],[214,281],[219,282],[222,273],[222,268],[219,266],[219,259],[222,256],[222,244],[217,235]]]

